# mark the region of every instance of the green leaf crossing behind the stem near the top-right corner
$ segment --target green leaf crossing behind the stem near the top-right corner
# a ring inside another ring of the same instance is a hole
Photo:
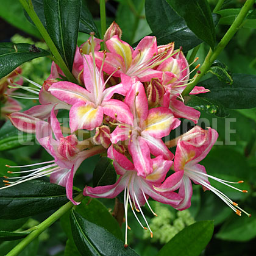
[[[221,15],[221,18],[219,20],[219,24],[224,24],[224,25],[231,25],[237,15],[240,13],[241,9],[224,9],[224,10],[219,10],[218,13]],[[256,28],[256,12],[255,10],[249,11],[249,14],[247,15],[246,19],[244,20],[243,24],[241,27],[247,28],[247,29],[255,29]]]

